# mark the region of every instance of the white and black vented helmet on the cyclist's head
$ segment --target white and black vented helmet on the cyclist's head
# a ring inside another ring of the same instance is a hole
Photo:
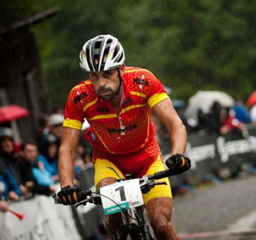
[[[83,45],[79,58],[84,71],[99,72],[120,67],[125,61],[125,54],[115,36],[99,35]]]

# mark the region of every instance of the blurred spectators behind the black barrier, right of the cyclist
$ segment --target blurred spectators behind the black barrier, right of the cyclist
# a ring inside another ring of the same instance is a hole
[[[256,99],[256,92],[255,92]],[[246,106],[247,105],[247,106]],[[218,100],[212,102],[212,105],[207,113],[198,109],[197,118],[186,116],[186,104],[173,106],[179,114],[183,124],[188,132],[204,131],[209,134],[215,133],[224,136],[228,132],[236,131],[243,136],[248,137],[248,124],[256,124],[256,100],[255,104],[244,104],[243,100],[236,99],[234,106],[223,106]],[[156,118],[152,118],[156,127],[157,140],[161,144],[161,140],[169,138],[163,125]]]

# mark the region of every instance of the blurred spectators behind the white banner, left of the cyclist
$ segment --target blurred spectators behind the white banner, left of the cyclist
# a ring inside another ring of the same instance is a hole
[[[62,111],[42,116],[35,140],[22,143],[15,141],[10,127],[0,126],[0,211],[7,211],[9,200],[56,191],[63,120]],[[92,162],[92,146],[84,141],[77,148],[76,173]]]

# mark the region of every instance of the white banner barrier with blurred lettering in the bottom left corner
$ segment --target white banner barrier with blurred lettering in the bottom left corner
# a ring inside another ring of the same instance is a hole
[[[12,203],[10,209],[24,214],[20,221],[10,212],[0,212],[0,239],[79,240],[76,223],[69,206],[55,205],[50,197]],[[3,229],[2,229],[3,228]]]

